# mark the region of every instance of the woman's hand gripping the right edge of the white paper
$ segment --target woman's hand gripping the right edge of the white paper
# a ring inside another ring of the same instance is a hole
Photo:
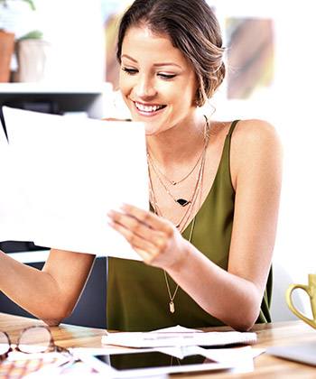
[[[116,229],[144,263],[163,268],[175,268],[188,252],[188,241],[172,223],[131,205],[124,205],[121,212],[111,210],[109,225]]]

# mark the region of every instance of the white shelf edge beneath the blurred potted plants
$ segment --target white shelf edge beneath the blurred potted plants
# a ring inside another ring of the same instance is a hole
[[[54,83],[0,83],[0,94],[91,94],[111,89],[110,83],[92,85]]]

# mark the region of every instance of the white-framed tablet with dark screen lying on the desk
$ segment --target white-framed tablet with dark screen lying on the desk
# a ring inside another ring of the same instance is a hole
[[[111,355],[79,355],[79,358],[100,373],[111,377],[141,377],[153,374],[174,374],[196,371],[219,371],[231,368],[197,354],[180,359],[156,351]]]

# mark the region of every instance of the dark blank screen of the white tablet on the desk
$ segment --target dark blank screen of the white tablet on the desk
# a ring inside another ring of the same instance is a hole
[[[194,355],[185,356],[180,359],[175,356],[159,352],[133,353],[133,354],[117,354],[117,355],[98,355],[95,356],[100,361],[111,365],[116,370],[131,370],[141,368],[165,367],[174,365],[199,365],[203,363],[213,363],[205,356]]]

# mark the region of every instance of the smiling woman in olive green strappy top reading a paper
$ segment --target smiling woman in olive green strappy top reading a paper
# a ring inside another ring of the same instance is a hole
[[[133,120],[145,123],[152,208],[108,214],[144,260],[109,258],[108,328],[247,330],[270,321],[281,148],[264,121],[200,112],[225,76],[223,51],[204,0],[136,0],[123,16],[120,90]],[[2,291],[55,325],[75,306],[94,258],[51,250],[42,273],[0,259]]]

